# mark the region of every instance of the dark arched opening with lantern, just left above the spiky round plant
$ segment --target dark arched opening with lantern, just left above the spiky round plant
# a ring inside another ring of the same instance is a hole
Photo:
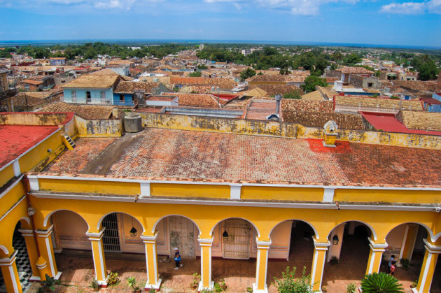
[[[375,238],[373,233],[367,224],[358,221],[344,222],[332,229],[322,282],[330,292],[338,292],[349,283],[360,285],[369,260],[368,238]]]

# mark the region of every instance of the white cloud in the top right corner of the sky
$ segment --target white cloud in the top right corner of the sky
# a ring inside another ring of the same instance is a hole
[[[381,6],[380,12],[408,15],[423,13],[441,14],[441,0],[430,0],[426,2],[390,3]]]

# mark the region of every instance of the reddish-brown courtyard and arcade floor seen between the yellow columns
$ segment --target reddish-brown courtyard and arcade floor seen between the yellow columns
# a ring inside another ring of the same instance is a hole
[[[367,266],[369,248],[360,238],[355,236],[346,237],[346,243],[342,247],[339,263],[325,264],[323,286],[330,293],[345,293],[349,283],[360,285]],[[314,245],[312,241],[304,238],[293,241],[289,262],[268,262],[267,284],[269,292],[277,292],[274,286],[274,277],[280,278],[281,272],[286,266],[297,267],[296,276],[302,275],[302,269],[306,266],[306,273],[311,272],[312,255]],[[94,276],[93,262],[90,252],[66,251],[56,256],[59,271],[62,271],[62,285],[58,292],[90,292],[90,280]],[[162,278],[160,292],[195,292],[190,288],[193,281],[193,273],[200,273],[200,259],[183,259],[183,268],[174,269],[174,262],[166,262],[165,257],[158,257],[158,271]],[[417,280],[421,269],[422,255],[415,254],[412,259],[413,265],[409,271],[397,268],[395,277],[400,280],[405,292],[412,292],[410,285]],[[144,255],[112,254],[106,252],[106,265],[108,271],[118,272],[120,284],[114,287],[102,288],[101,292],[131,292],[127,286],[127,278],[135,277],[142,287],[146,282],[146,261]],[[382,267],[381,271],[386,268]],[[255,259],[232,260],[213,259],[212,277],[214,281],[221,278],[228,285],[227,292],[246,292],[255,281]],[[33,283],[27,292],[37,292],[38,283]],[[432,285],[433,293],[441,292],[441,268],[437,266]]]

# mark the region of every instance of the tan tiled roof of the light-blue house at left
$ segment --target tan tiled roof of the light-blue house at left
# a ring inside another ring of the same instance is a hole
[[[101,75],[90,73],[84,76],[80,76],[79,78],[76,78],[69,83],[65,83],[61,86],[61,88],[109,89],[116,85],[116,83],[118,83],[118,80],[120,80],[120,76],[118,76],[118,74]]]

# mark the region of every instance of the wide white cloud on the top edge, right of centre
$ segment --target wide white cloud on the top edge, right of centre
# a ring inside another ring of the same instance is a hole
[[[207,3],[238,2],[238,0],[204,0]],[[355,4],[360,0],[240,0],[243,3],[255,4],[263,8],[290,10],[296,15],[316,15],[325,3],[345,2]]]

